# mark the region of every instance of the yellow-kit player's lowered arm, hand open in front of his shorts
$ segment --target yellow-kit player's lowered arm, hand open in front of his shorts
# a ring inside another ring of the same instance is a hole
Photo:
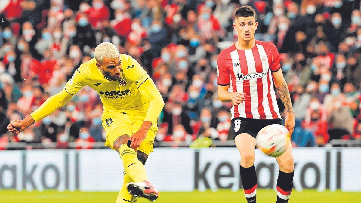
[[[138,132],[134,133],[130,137],[132,141],[130,147],[136,151],[136,148],[140,146],[140,143],[144,140],[148,130],[158,119],[163,107],[164,101],[158,88],[154,84],[151,78],[146,79],[139,87],[139,92],[149,99],[150,104],[147,112],[147,116]]]

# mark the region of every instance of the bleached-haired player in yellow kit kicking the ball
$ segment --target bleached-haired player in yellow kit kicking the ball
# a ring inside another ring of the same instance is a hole
[[[124,181],[117,203],[136,202],[137,197],[155,201],[159,193],[148,180],[144,164],[153,151],[164,101],[142,66],[131,56],[120,54],[112,43],[99,44],[95,57],[80,65],[62,91],[24,120],[11,121],[8,130],[17,135],[62,107],[84,86],[100,95],[105,146],[119,152],[123,162]]]

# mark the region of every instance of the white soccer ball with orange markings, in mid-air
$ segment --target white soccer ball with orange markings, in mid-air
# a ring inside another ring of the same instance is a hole
[[[262,128],[257,136],[257,147],[268,156],[278,157],[286,151],[290,132],[283,125],[272,124]]]

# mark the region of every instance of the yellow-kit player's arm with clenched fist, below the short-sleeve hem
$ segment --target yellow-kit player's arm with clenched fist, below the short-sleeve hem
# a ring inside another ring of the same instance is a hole
[[[14,135],[17,135],[20,132],[24,131],[27,127],[34,124],[35,122],[41,120],[44,117],[49,116],[56,109],[64,106],[64,104],[69,102],[69,100],[72,97],[73,95],[66,92],[64,88],[59,93],[49,97],[38,109],[32,112],[25,119],[21,121],[18,120],[11,121],[7,129]]]

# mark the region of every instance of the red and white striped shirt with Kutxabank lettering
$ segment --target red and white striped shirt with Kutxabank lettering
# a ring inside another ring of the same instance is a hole
[[[233,44],[219,53],[218,85],[230,85],[230,92],[246,93],[245,101],[231,108],[232,119],[281,118],[271,75],[280,67],[277,48],[269,42],[256,40],[248,50],[239,50]]]

